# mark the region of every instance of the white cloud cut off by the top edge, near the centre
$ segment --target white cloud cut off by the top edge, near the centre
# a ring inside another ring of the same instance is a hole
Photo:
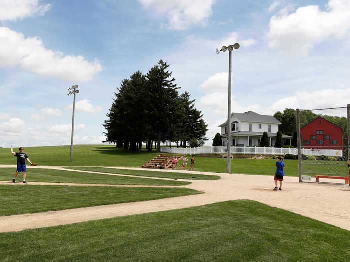
[[[166,15],[168,26],[184,30],[191,25],[203,24],[212,14],[215,0],[138,0],[142,6],[157,14]]]

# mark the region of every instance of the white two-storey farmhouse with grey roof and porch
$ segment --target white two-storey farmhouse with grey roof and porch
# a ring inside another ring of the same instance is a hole
[[[281,124],[273,116],[260,115],[252,111],[245,113],[232,113],[231,115],[231,145],[232,146],[260,146],[263,132],[267,132],[270,146],[274,146]],[[223,145],[227,143],[227,121],[221,125]],[[291,144],[291,136],[283,135]]]

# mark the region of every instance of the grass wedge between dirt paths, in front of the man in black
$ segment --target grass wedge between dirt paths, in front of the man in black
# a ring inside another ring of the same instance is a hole
[[[187,188],[1,185],[0,216],[154,200],[199,193],[199,191]]]

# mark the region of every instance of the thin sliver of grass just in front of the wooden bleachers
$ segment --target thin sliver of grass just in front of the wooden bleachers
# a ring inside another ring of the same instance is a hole
[[[128,170],[128,169],[116,169],[116,168],[104,168],[104,167],[64,167],[69,169],[94,171],[121,175],[133,175],[144,177],[161,177],[161,178],[179,178],[179,179],[194,179],[194,180],[216,180],[220,179],[219,176],[201,175],[201,174],[186,174],[186,173],[174,173],[174,172],[158,172],[149,170]]]

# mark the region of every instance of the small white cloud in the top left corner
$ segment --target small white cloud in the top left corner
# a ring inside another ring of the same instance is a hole
[[[0,21],[13,21],[33,15],[43,15],[50,4],[41,4],[41,0],[0,0]]]

